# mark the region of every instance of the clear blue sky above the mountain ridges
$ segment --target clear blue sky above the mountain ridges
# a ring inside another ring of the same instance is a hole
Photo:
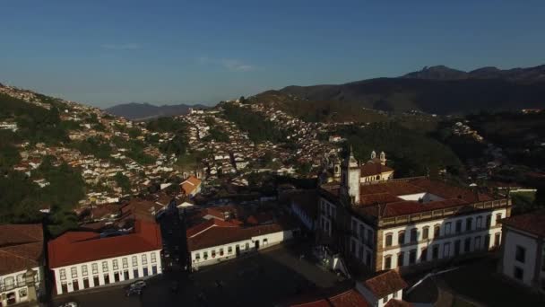
[[[545,64],[545,1],[3,0],[0,83],[100,108]]]

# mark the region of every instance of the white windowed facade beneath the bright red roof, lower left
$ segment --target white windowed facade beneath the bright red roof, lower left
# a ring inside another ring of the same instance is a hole
[[[151,254],[155,255],[155,261],[151,262]],[[143,258],[142,256],[146,255],[147,264],[143,264]],[[136,256],[137,264],[136,266],[133,266],[133,256]],[[123,265],[123,259],[127,259],[127,268],[124,268]],[[117,260],[117,269],[114,269],[114,260]],[[102,262],[106,261],[108,263],[108,272],[105,272],[102,268]],[[92,264],[97,264],[98,272],[93,273],[92,270]],[[87,275],[83,275],[83,269],[82,267],[87,267]],[[161,274],[162,267],[160,262],[160,250],[152,250],[148,252],[143,253],[136,253],[136,254],[130,254],[125,255],[121,257],[116,258],[110,258],[110,259],[99,259],[95,261],[90,262],[84,262],[79,263],[72,266],[66,266],[66,267],[59,267],[59,268],[51,268],[54,271],[55,274],[55,283],[56,283],[56,294],[63,294],[63,284],[67,285],[67,293],[74,292],[74,281],[77,280],[79,290],[83,289],[83,280],[87,279],[89,280],[89,287],[98,286],[94,283],[94,276],[99,277],[99,285],[105,285],[104,276],[109,276],[109,284],[115,284],[115,278],[114,273],[119,273],[119,281],[125,281],[124,271],[128,271],[129,278],[128,279],[140,279],[143,278],[143,269],[148,268],[148,275],[153,275],[153,267],[157,268],[157,274]],[[72,276],[72,268],[76,268],[76,276]],[[61,279],[61,270],[65,269],[65,279]],[[138,271],[138,276],[134,276],[134,270]],[[127,280],[128,280],[127,279]]]

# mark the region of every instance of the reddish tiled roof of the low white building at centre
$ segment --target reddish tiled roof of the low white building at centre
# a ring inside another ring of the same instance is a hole
[[[281,224],[265,224],[251,227],[240,227],[232,225],[226,227],[214,224],[213,226],[205,228],[204,231],[188,237],[187,249],[190,251],[203,250],[218,245],[249,240],[254,236],[266,233],[281,232],[285,229],[287,229],[287,227],[284,227]]]

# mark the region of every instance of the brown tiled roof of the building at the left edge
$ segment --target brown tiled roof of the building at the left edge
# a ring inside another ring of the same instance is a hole
[[[41,224],[0,225],[0,275],[38,267],[43,240]]]

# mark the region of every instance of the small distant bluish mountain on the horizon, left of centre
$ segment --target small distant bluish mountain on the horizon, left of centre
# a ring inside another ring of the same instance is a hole
[[[202,104],[186,105],[173,104],[156,106],[150,103],[124,103],[106,109],[108,113],[116,116],[121,116],[133,120],[144,120],[151,118],[159,118],[163,116],[177,116],[187,114],[190,108],[206,109],[209,108]]]

